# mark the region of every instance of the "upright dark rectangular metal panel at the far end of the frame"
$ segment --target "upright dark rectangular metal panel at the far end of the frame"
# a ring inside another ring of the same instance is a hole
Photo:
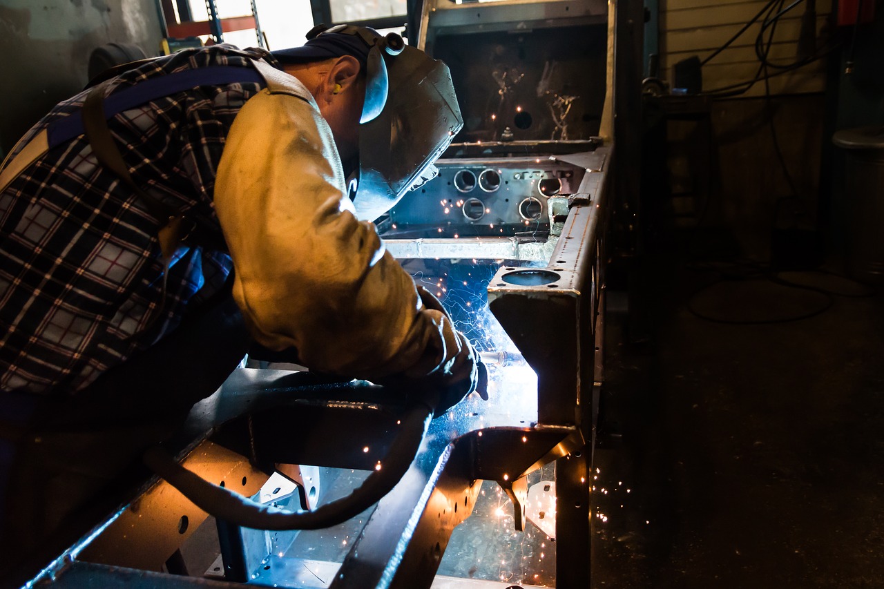
[[[608,7],[606,0],[424,3],[418,45],[454,64],[465,123],[454,143],[488,146],[492,155],[507,143],[540,142],[526,151],[542,154],[548,142],[598,136]]]

